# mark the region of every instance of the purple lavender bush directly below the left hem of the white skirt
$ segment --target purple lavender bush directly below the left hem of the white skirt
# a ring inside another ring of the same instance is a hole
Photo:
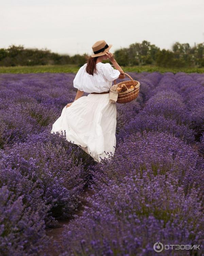
[[[2,169],[9,164],[43,189],[43,199],[52,207],[49,223],[52,217],[72,215],[89,174],[82,160],[75,159],[81,151],[74,157],[72,145],[66,140],[62,145],[56,137],[49,131],[30,136],[24,143],[7,147],[6,160],[2,157],[1,161]]]

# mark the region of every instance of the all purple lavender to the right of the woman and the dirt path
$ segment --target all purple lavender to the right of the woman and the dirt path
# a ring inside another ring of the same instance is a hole
[[[158,241],[200,244],[163,255],[204,253],[204,75],[132,76],[140,97],[117,105],[114,159],[92,166],[94,196],[65,227],[61,256],[157,255]]]

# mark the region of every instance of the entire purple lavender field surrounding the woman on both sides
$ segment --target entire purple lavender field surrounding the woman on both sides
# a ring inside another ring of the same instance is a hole
[[[204,254],[204,74],[128,73],[140,93],[116,103],[116,151],[101,163],[50,133],[74,73],[0,74],[0,255],[151,256],[158,241],[201,245],[161,255]]]

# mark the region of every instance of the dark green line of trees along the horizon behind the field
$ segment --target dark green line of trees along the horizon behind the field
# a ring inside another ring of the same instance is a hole
[[[34,66],[75,64],[79,67],[87,62],[88,54],[74,56],[52,53],[49,49],[24,48],[11,45],[0,48],[0,66]],[[204,43],[190,47],[188,43],[176,42],[172,49],[160,49],[144,40],[117,49],[114,57],[121,66],[156,65],[160,67],[204,67]]]

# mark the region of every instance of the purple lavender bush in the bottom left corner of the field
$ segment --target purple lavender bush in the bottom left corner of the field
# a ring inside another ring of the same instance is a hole
[[[0,168],[0,177],[0,254],[42,253],[50,243],[44,221],[50,207],[43,190],[10,166]]]

